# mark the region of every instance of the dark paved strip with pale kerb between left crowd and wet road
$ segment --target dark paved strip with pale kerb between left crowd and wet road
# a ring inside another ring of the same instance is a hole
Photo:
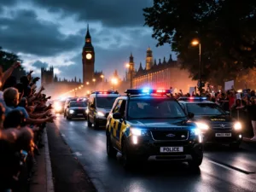
[[[47,125],[43,139],[45,146],[36,156],[30,192],[96,192],[54,123]]]

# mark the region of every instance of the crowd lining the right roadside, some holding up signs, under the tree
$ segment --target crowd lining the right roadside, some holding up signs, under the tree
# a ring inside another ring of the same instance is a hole
[[[172,87],[170,88],[172,90]],[[181,96],[205,96],[207,101],[215,102],[224,109],[225,112],[229,112],[230,115],[237,120],[240,120],[245,134],[256,141],[256,95],[255,90],[245,89],[236,90],[234,87],[230,90],[218,90],[212,91],[209,87],[207,90],[192,92],[191,94],[183,94],[180,90],[179,93],[172,95],[178,99]]]

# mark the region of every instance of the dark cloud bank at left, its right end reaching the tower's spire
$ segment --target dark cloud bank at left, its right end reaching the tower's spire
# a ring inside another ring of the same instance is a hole
[[[58,27],[38,20],[32,10],[15,11],[12,19],[0,18],[0,43],[3,49],[39,56],[56,55],[82,46],[82,34],[65,36]]]

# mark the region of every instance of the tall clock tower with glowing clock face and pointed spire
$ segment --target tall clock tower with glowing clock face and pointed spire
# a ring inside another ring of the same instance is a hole
[[[87,82],[91,84],[92,79],[94,78],[94,63],[95,63],[95,52],[91,44],[89,25],[87,26],[87,32],[85,36],[85,44],[82,53],[83,61],[83,84]]]

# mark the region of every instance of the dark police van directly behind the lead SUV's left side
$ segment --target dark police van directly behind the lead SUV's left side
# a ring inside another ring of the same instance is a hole
[[[119,96],[117,91],[95,91],[90,94],[87,108],[88,126],[94,128],[107,124],[106,113],[113,107],[113,102]]]

